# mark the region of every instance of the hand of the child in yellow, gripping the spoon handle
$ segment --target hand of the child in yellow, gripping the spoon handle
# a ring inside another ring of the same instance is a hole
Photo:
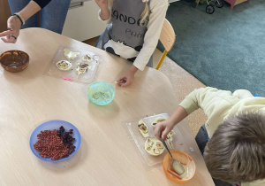
[[[163,140],[167,139],[168,134],[174,128],[174,122],[170,120],[164,120],[162,122],[158,122],[155,125],[154,135],[157,139],[162,138]]]

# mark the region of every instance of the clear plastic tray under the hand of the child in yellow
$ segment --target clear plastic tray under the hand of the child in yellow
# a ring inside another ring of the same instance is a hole
[[[139,120],[143,120],[147,126],[148,126],[148,133],[150,137],[155,137],[154,136],[154,127],[151,125],[152,122],[157,118],[157,117],[162,117],[165,119],[168,119],[170,116],[168,113],[160,113],[157,115],[153,115],[153,116],[147,116],[145,118],[141,118]],[[148,167],[154,167],[154,166],[158,166],[158,165],[162,165],[163,162],[163,157],[166,153],[168,153],[168,151],[166,151],[166,149],[163,151],[162,154],[158,155],[158,156],[152,156],[150,154],[148,154],[148,152],[145,150],[145,143],[147,138],[145,138],[144,136],[142,136],[140,134],[140,130],[138,128],[138,124],[139,124],[139,120],[133,120],[133,121],[129,121],[126,123],[126,127],[129,131],[129,133],[132,136],[132,142],[133,145],[137,147],[137,149],[140,151],[140,155],[142,156],[142,158],[144,159],[145,164]],[[181,135],[180,131],[178,130],[178,127],[175,126],[175,128],[173,128],[175,134],[172,136],[173,140],[172,140],[172,144],[174,146],[174,150],[178,150],[178,151],[186,151],[187,147],[186,144],[184,143],[184,138]],[[170,149],[170,150],[173,150]]]

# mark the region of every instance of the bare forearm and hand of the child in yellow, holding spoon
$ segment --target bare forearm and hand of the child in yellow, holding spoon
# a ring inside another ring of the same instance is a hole
[[[166,140],[167,135],[181,120],[187,116],[186,110],[182,106],[178,106],[168,120],[164,120],[155,125],[154,135],[156,138]]]

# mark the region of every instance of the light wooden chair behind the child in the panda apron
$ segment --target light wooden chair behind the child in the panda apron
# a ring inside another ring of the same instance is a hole
[[[167,53],[172,49],[176,41],[175,31],[167,19],[164,19],[163,21],[163,27],[159,40],[163,44],[164,50],[162,57],[159,59],[159,62],[155,67],[156,70],[159,69],[159,67],[163,63],[163,59],[166,57]]]

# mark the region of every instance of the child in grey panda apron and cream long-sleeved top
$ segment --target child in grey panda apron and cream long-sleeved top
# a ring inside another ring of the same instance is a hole
[[[133,83],[134,74],[153,66],[152,55],[158,43],[168,9],[167,0],[95,0],[99,19],[108,27],[97,47],[125,58],[133,65],[117,81],[125,87]]]

